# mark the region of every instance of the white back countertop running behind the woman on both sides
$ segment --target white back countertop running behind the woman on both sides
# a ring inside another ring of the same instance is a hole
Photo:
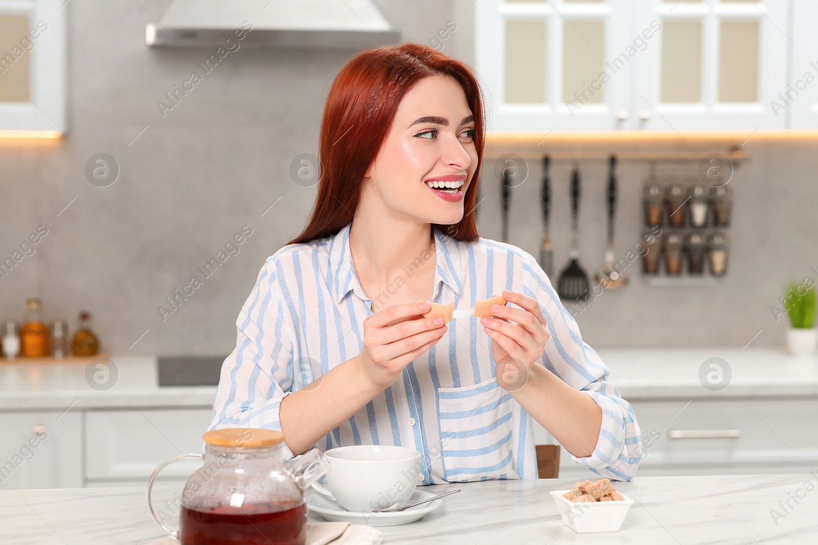
[[[747,348],[600,349],[610,382],[626,400],[818,395],[818,357],[794,358],[783,350]],[[722,391],[699,382],[699,367],[719,357],[732,379]],[[209,407],[216,386],[158,386],[153,355],[111,355],[119,370],[115,386],[97,391],[86,364],[20,361],[0,364],[0,410],[116,407]]]

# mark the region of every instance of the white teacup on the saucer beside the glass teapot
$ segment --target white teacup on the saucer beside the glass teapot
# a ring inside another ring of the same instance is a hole
[[[347,511],[371,512],[407,504],[420,475],[420,452],[391,444],[356,444],[324,453],[329,489],[312,488]],[[397,508],[396,507],[396,508]]]

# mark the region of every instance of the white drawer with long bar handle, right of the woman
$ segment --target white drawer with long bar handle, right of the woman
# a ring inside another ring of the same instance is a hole
[[[632,406],[644,466],[818,462],[816,399],[636,401]]]

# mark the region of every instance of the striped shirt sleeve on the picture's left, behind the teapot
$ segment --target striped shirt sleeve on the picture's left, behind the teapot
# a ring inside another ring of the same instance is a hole
[[[281,431],[281,400],[293,386],[293,346],[275,257],[258,273],[236,319],[236,348],[222,364],[209,429],[259,427]],[[282,444],[286,459],[293,453]]]

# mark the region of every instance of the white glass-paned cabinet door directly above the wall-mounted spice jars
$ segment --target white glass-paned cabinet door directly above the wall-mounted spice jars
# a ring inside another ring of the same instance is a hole
[[[640,2],[642,3],[642,2]],[[636,66],[638,128],[684,131],[786,127],[771,101],[789,62],[786,0],[645,0],[658,39]]]

